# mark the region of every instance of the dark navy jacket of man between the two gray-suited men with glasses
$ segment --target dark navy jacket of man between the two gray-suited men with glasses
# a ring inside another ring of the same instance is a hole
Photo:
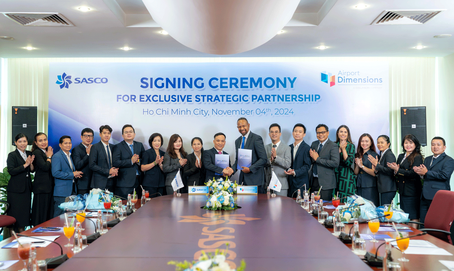
[[[311,168],[311,156],[309,150],[311,147],[306,142],[301,141],[298,150],[296,150],[295,160],[293,160],[293,144],[290,145],[291,150],[291,169],[295,170],[295,177],[289,175],[289,184],[295,187],[301,187],[306,184],[306,189],[311,188],[309,182],[309,169]]]

